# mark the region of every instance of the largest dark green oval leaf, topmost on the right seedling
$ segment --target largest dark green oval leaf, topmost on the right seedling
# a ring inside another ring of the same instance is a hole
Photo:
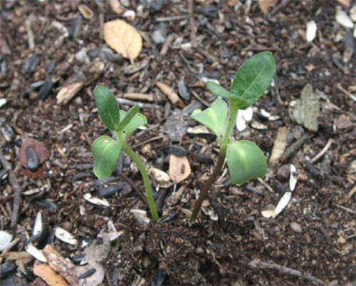
[[[276,62],[270,51],[263,51],[248,58],[237,71],[231,85],[231,93],[244,98],[248,104],[241,106],[246,109],[260,98],[270,85],[276,71]],[[231,102],[235,105],[234,99]]]

